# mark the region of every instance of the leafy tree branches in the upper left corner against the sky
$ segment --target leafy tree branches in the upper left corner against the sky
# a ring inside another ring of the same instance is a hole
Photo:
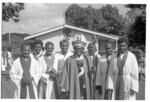
[[[12,19],[14,22],[18,22],[19,13],[23,9],[23,3],[2,3],[2,20],[8,22]]]

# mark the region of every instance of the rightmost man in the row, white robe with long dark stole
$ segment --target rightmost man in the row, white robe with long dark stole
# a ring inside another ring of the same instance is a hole
[[[113,71],[109,74],[108,88],[115,90],[116,100],[135,100],[139,90],[137,59],[127,47],[128,40],[120,38],[116,58],[118,70],[116,81],[113,81]]]

